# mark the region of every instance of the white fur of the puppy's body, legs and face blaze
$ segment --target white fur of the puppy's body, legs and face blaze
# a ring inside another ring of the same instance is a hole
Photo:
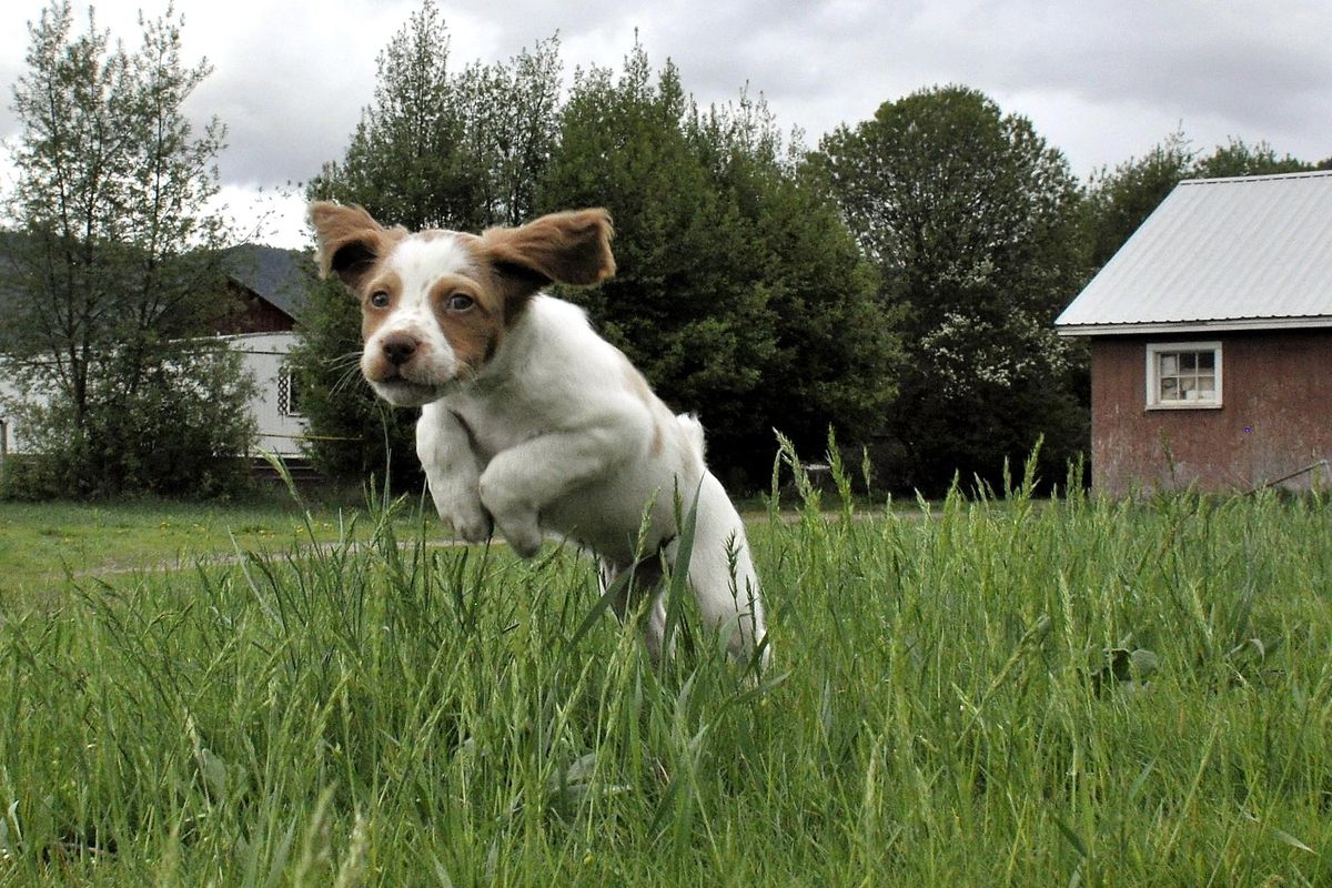
[[[422,277],[440,268],[413,265],[394,257],[405,298],[381,330],[418,330],[430,320],[406,297],[425,293]],[[448,341],[437,329],[422,341],[444,377],[452,366]],[[373,345],[372,338],[366,349]],[[697,494],[690,586],[707,624],[729,636],[731,654],[753,654],[766,631],[758,578],[741,517],[703,462],[702,425],[673,415],[581,309],[533,297],[494,358],[441,390],[421,409],[417,454],[441,518],[460,537],[481,542],[494,529],[530,556],[546,533],[559,534],[595,551],[609,583],[645,555],[661,553],[674,563],[677,495],[687,513]],[[653,576],[646,563],[639,568]],[[654,592],[646,640],[661,656],[665,603]]]

